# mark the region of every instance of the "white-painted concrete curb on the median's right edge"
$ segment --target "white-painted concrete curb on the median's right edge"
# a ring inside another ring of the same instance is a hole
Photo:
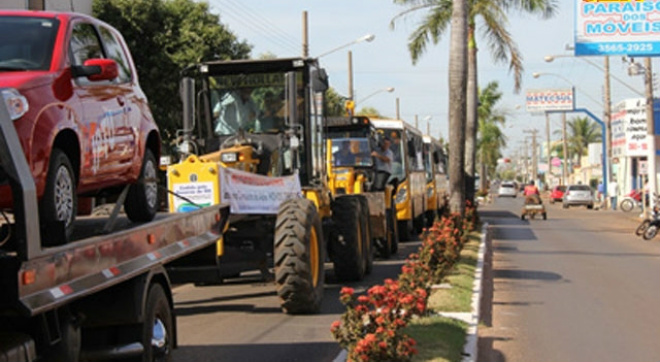
[[[463,362],[476,362],[478,355],[477,342],[479,340],[479,314],[481,306],[481,290],[483,287],[484,255],[486,253],[486,238],[488,237],[488,223],[481,227],[481,242],[477,257],[477,267],[474,271],[474,284],[472,287],[472,313],[468,322],[465,345],[463,346]]]

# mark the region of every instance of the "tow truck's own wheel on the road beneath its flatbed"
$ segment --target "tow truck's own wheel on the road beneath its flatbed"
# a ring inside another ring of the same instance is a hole
[[[163,287],[158,283],[149,288],[142,328],[142,361],[170,361],[174,348],[172,310]]]

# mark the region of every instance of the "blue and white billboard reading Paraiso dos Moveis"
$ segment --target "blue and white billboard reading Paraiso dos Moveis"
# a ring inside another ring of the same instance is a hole
[[[576,0],[575,55],[660,55],[660,0]]]

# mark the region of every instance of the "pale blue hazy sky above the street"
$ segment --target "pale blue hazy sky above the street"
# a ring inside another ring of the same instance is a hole
[[[363,106],[374,107],[380,113],[394,117],[399,99],[401,118],[426,131],[429,120],[431,134],[448,135],[448,60],[449,33],[438,45],[427,48],[422,59],[413,65],[407,49],[409,34],[417,27],[424,12],[399,18],[394,29],[390,21],[403,7],[387,0],[209,0],[212,12],[240,39],[254,46],[253,56],[266,52],[278,57],[302,54],[302,13],[309,20],[309,53],[317,56],[352,42],[366,34],[374,34],[372,42],[354,44],[321,58],[330,76],[330,84],[339,93],[348,94],[348,51],[353,58],[353,88],[355,99],[368,96],[387,87],[392,93],[381,92],[370,97]],[[522,147],[523,130],[536,128],[545,139],[545,117],[525,112],[525,90],[538,88],[567,88],[576,86],[576,106],[588,108],[602,116],[604,74],[583,59],[570,57],[566,45],[573,44],[574,1],[559,0],[558,14],[548,20],[536,16],[510,13],[508,29],[523,54],[525,73],[523,89],[513,92],[513,77],[507,64],[493,62],[487,41],[479,37],[479,84],[497,81],[503,92],[500,108],[508,112],[506,134],[509,153]],[[553,62],[545,62],[546,55],[565,54]],[[590,57],[593,63],[603,64],[601,57]],[[639,59],[641,62],[642,60]],[[655,67],[654,61],[654,67]],[[610,58],[611,74],[633,89],[644,91],[641,76],[627,75],[627,65],[621,57]],[[538,79],[532,74],[542,75]],[[565,78],[565,79],[562,79]],[[612,104],[625,98],[638,97],[617,80],[611,80]],[[570,116],[569,116],[570,118]],[[559,115],[551,116],[551,128],[561,126]],[[557,136],[553,136],[553,139]]]

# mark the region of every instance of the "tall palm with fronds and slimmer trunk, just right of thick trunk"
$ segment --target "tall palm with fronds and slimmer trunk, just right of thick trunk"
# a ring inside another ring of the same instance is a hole
[[[410,35],[408,50],[413,64],[416,63],[426,50],[429,40],[433,44],[440,41],[442,34],[452,19],[452,0],[394,0],[394,3],[408,6],[408,9],[399,13],[395,20],[420,9],[429,9],[428,15],[419,27]],[[508,10],[517,10],[530,14],[540,14],[544,18],[554,15],[557,9],[557,0],[468,0],[468,80],[467,80],[467,113],[466,113],[466,163],[465,171],[468,199],[474,198],[474,176],[477,137],[477,41],[476,19],[480,17],[484,24],[483,36],[487,39],[495,62],[508,62],[509,70],[514,74],[514,90],[520,91],[522,83],[522,55],[516,43],[506,29]],[[454,48],[450,48],[454,51]],[[450,89],[451,92],[451,89]]]

